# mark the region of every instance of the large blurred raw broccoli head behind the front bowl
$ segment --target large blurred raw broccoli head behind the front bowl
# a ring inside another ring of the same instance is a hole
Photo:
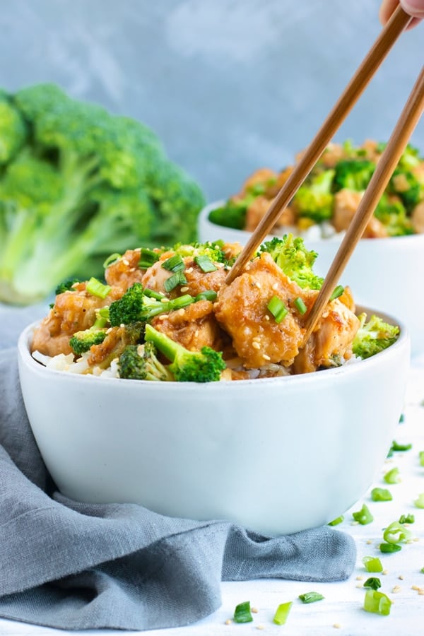
[[[0,300],[99,277],[110,252],[196,236],[204,197],[143,124],[53,84],[0,93]]]

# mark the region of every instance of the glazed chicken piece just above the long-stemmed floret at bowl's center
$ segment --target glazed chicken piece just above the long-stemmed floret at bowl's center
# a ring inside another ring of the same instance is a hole
[[[158,316],[151,324],[189,351],[200,351],[202,347],[217,351],[222,348],[220,328],[209,300],[199,300],[184,309]]]

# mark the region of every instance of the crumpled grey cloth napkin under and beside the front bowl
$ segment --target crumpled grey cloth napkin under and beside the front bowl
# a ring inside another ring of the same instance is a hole
[[[0,310],[1,329],[5,319],[13,312]],[[216,611],[221,580],[326,582],[353,570],[353,539],[328,526],[268,538],[219,519],[67,499],[30,430],[14,346],[0,350],[0,444],[4,618],[68,630],[171,628]]]

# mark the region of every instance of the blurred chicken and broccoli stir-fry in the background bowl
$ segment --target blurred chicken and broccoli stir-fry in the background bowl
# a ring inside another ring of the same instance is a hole
[[[288,231],[309,238],[329,238],[344,232],[355,214],[385,144],[365,141],[331,143],[305,183],[283,210],[273,233]],[[253,231],[278,191],[293,172],[263,167],[241,191],[209,214],[218,225]],[[364,232],[365,238],[404,236],[424,232],[424,159],[408,146]]]

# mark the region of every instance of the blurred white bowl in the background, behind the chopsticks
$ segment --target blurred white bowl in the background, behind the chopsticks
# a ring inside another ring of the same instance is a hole
[[[223,203],[218,201],[201,211],[199,240],[223,239],[245,245],[250,232],[223,228],[208,220],[210,211]],[[340,243],[341,237],[305,239],[306,247],[318,254],[314,271],[319,276],[326,275]],[[424,353],[424,234],[360,240],[341,282],[350,285],[353,297],[363,305],[399,316],[411,334],[412,354]]]

